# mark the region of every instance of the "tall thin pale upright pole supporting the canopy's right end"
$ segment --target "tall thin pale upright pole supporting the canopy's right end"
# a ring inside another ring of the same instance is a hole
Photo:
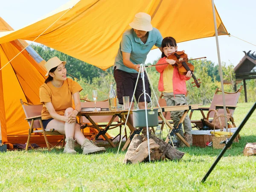
[[[213,20],[214,20],[214,28],[215,28],[215,38],[216,38],[217,53],[218,53],[218,64],[219,64],[219,71],[220,71],[220,78],[221,78],[223,110],[224,110],[224,116],[227,116],[226,102],[225,102],[225,93],[224,93],[224,85],[223,85],[223,76],[222,76],[222,69],[221,69],[221,55],[220,55],[220,49],[219,49],[219,44],[218,44],[218,30],[217,30],[217,23],[216,23],[216,16],[215,16],[214,0],[212,0],[212,12],[213,12]],[[226,125],[226,131],[228,131],[227,119],[226,118],[225,118],[225,125]]]

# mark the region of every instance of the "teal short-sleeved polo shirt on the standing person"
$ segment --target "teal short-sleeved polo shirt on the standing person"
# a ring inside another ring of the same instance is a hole
[[[145,44],[137,37],[134,29],[128,29],[122,35],[122,41],[115,58],[114,67],[128,73],[138,73],[136,70],[124,65],[122,52],[131,53],[130,61],[133,64],[145,64],[148,52],[154,45],[156,47],[161,47],[162,41],[163,37],[156,28],[153,28],[153,30],[148,32],[148,38]]]

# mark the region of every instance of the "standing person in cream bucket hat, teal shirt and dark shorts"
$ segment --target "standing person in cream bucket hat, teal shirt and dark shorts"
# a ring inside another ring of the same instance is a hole
[[[123,33],[114,63],[114,78],[119,104],[123,104],[123,96],[129,96],[131,102],[140,64],[145,64],[151,48],[155,45],[162,51],[161,44],[163,37],[158,29],[152,27],[150,15],[143,12],[137,13],[133,22],[129,25],[131,29]],[[146,75],[145,89],[146,93],[151,95],[148,77]],[[141,96],[140,101],[138,101],[142,93],[143,83],[140,77],[135,91],[135,98],[140,109],[145,109],[144,96]],[[147,102],[150,102],[148,96],[146,99]]]

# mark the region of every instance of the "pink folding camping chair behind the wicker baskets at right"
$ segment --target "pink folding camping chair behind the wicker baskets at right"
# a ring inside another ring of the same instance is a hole
[[[224,92],[225,93],[225,103],[226,103],[226,110],[227,113],[229,113],[230,115],[230,122],[233,124],[234,127],[236,127],[236,124],[234,122],[234,118],[233,118],[233,113],[236,109],[236,104],[238,102],[239,96],[241,94],[241,90],[243,89],[243,86],[241,85],[239,90],[237,90],[236,92],[233,93],[228,93],[228,92]],[[218,94],[220,93],[220,94]],[[191,110],[190,114],[189,114],[189,119],[191,120],[192,123],[195,123],[198,127],[202,127],[202,122],[201,120],[192,120],[192,114],[193,112],[196,111],[201,111],[202,117],[204,118],[204,121],[206,121],[207,123],[211,123],[212,122],[212,118],[214,118],[214,111],[210,111],[212,109],[215,109],[216,111],[218,111],[218,113],[224,113],[224,109],[223,109],[223,99],[222,99],[222,91],[219,90],[218,88],[215,90],[215,93],[213,95],[212,98],[212,102],[209,108],[198,108],[198,109],[194,109]],[[211,119],[207,120],[207,117],[204,114],[204,111],[207,111],[207,116]],[[209,124],[211,125],[211,124]],[[232,125],[231,125],[232,126]],[[212,126],[213,128],[213,126]]]

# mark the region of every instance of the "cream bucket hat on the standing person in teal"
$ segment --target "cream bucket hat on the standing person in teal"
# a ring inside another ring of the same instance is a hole
[[[134,16],[133,22],[131,22],[129,25],[133,29],[141,31],[151,31],[153,27],[150,22],[151,16],[146,13],[140,12]]]

